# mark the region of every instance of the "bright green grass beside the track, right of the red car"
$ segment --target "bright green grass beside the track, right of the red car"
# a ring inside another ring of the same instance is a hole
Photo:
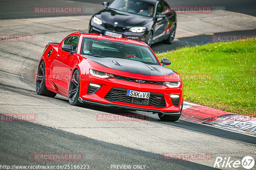
[[[184,83],[184,101],[256,116],[256,43],[219,42],[184,47],[157,57],[168,58]]]

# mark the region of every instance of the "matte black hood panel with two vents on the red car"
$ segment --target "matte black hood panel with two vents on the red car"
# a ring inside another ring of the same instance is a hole
[[[82,55],[82,56],[104,67],[113,68],[116,70],[125,71],[129,73],[136,73],[136,74],[143,74],[143,75],[159,75],[159,76],[171,75],[174,73],[174,71],[168,67],[164,67],[160,65],[149,65],[149,64],[145,64],[135,60],[119,59],[119,58],[112,58],[112,57],[99,58],[99,57],[93,57],[89,55]],[[114,63],[116,62],[121,66],[115,65]]]

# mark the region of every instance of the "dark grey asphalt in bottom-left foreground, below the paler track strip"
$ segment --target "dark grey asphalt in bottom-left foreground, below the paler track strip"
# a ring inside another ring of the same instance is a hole
[[[17,131],[18,129],[18,131]],[[1,123],[0,165],[35,165],[33,154],[81,153],[82,161],[40,161],[36,165],[89,165],[109,169],[111,165],[146,165],[146,169],[215,169],[189,161],[165,161],[150,152],[113,145],[30,122]],[[148,167],[148,168],[147,168]]]

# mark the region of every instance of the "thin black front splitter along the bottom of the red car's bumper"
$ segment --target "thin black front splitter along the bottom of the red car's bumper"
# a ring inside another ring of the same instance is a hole
[[[181,112],[163,112],[161,110],[142,109],[142,108],[135,108],[135,107],[130,107],[130,106],[122,106],[122,105],[118,105],[118,104],[106,104],[106,103],[85,100],[81,97],[78,97],[78,101],[80,103],[86,103],[86,104],[91,104],[91,105],[108,106],[108,107],[115,107],[115,108],[121,108],[121,109],[127,109],[127,110],[146,111],[146,112],[160,113],[163,115],[172,115],[172,116],[180,116],[181,115]]]

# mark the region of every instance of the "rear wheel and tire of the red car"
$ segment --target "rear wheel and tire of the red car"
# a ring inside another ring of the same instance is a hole
[[[36,75],[36,93],[42,96],[55,97],[56,93],[48,90],[45,86],[45,65],[41,61]]]

